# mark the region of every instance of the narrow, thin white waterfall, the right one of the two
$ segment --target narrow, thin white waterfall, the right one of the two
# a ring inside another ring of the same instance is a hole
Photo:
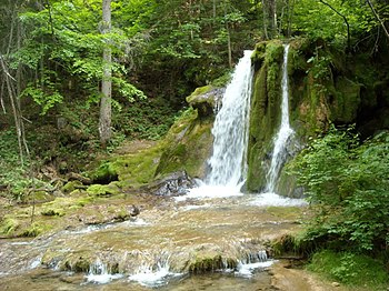
[[[289,124],[289,86],[288,86],[288,52],[289,44],[283,46],[282,64],[282,101],[281,101],[281,126],[275,139],[275,148],[271,154],[270,169],[267,174],[267,192],[276,191],[276,183],[282,164],[287,158],[287,144],[293,130]]]

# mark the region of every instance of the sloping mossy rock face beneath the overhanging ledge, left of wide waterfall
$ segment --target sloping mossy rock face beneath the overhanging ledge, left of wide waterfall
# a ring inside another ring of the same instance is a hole
[[[186,171],[190,177],[203,178],[213,142],[212,126],[213,117],[200,118],[193,109],[183,114],[168,133],[156,177]]]

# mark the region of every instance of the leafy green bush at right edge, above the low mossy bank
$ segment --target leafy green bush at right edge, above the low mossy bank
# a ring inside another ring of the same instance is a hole
[[[308,238],[336,250],[375,253],[389,242],[389,134],[362,144],[351,129],[313,140],[295,174],[317,205]]]

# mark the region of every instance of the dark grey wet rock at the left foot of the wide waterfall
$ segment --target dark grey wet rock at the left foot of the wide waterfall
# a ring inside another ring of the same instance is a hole
[[[187,193],[187,189],[193,185],[193,180],[186,171],[178,171],[143,187],[142,190],[154,195],[182,195]]]

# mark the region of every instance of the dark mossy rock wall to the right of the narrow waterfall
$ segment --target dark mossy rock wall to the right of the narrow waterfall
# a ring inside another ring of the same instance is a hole
[[[361,84],[347,77],[346,56],[323,41],[293,40],[290,44],[290,122],[302,143],[328,130],[330,123],[356,122]]]

